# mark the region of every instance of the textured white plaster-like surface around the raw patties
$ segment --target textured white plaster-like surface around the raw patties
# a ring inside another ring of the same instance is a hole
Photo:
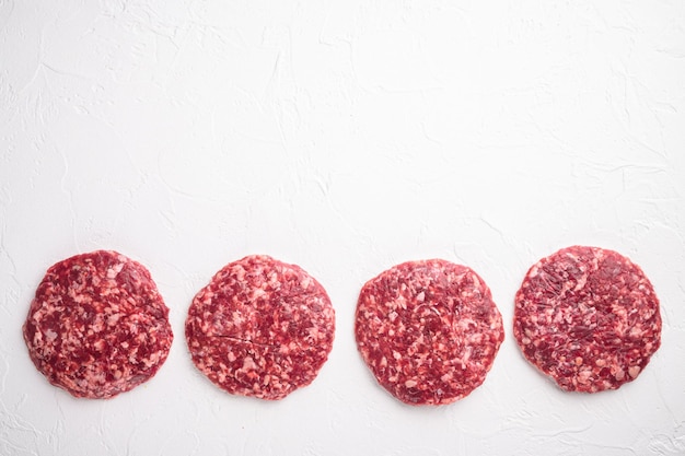
[[[685,454],[684,24],[680,0],[0,0],[0,454]],[[571,244],[628,255],[662,302],[663,346],[617,391],[560,391],[511,335],[526,268]],[[51,387],[21,338],[45,269],[96,248],[149,267],[176,336],[108,401]],[[183,336],[253,253],[337,312],[328,363],[280,402],[221,393]],[[411,408],[374,384],[353,309],[431,257],[483,276],[507,340],[469,397]]]

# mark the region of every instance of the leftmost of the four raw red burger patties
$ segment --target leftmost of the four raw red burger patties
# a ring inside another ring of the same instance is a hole
[[[86,398],[111,398],[150,379],[173,340],[169,308],[150,272],[104,250],[49,268],[23,331],[38,371]]]

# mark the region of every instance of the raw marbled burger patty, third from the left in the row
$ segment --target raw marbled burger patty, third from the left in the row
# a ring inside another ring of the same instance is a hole
[[[485,381],[504,331],[478,274],[431,259],[395,266],[367,282],[355,336],[364,362],[393,396],[441,405]]]

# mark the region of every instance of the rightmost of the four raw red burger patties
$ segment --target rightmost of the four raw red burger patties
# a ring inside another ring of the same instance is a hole
[[[661,343],[659,300],[628,258],[568,247],[529,270],[513,329],[525,358],[562,389],[615,389],[635,379]]]

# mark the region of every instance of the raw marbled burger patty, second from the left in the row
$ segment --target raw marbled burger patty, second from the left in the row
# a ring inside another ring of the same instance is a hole
[[[333,348],[335,314],[300,267],[248,256],[197,293],[186,339],[193,362],[220,388],[282,399],[312,383]]]

